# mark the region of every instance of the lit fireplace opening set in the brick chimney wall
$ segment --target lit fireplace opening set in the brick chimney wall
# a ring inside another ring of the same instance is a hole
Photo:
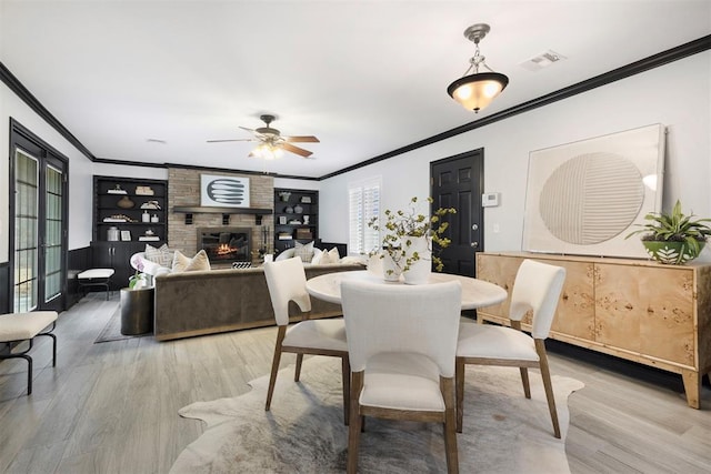
[[[251,262],[249,228],[200,228],[198,251],[204,250],[211,262]]]

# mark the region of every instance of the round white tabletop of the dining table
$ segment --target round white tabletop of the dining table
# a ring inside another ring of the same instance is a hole
[[[329,303],[341,303],[342,281],[367,281],[381,284],[404,284],[400,282],[387,282],[377,273],[363,271],[326,273],[307,281],[307,291],[313,297],[328,301]],[[490,306],[501,303],[507,299],[507,291],[501,286],[483,280],[470,276],[450,275],[447,273],[432,272],[430,283],[443,283],[457,280],[462,285],[462,310],[475,310],[477,307]]]

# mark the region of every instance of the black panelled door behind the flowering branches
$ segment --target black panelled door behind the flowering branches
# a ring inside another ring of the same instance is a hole
[[[448,214],[445,236],[452,243],[440,252],[444,273],[475,276],[475,252],[483,250],[483,209],[481,194],[484,181],[482,149],[430,163],[432,210],[454,208]]]

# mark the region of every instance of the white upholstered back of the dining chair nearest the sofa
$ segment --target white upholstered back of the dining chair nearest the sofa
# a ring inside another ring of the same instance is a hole
[[[266,262],[264,275],[278,325],[289,324],[290,301],[297,303],[302,312],[311,311],[311,299],[307,293],[307,274],[300,258]]]

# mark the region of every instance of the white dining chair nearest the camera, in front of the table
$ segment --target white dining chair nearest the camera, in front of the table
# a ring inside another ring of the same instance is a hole
[[[363,416],[442,423],[449,473],[459,472],[454,353],[461,285],[342,282],[352,381],[348,472],[358,471]]]

